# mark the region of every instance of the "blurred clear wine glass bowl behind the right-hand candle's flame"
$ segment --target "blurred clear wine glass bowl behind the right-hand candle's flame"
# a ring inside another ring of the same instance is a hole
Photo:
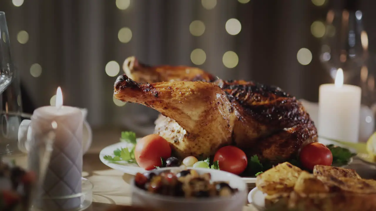
[[[331,9],[326,16],[320,60],[334,79],[338,68],[344,82],[358,85],[360,70],[368,58],[368,37],[356,1],[347,0],[343,10]]]

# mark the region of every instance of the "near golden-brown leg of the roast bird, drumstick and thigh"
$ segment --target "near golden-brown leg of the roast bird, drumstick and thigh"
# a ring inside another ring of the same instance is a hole
[[[167,140],[179,154],[209,156],[231,143],[236,118],[232,104],[223,90],[202,81],[136,83],[126,75],[115,81],[114,96],[124,102],[151,107],[174,119],[170,130],[180,131]]]

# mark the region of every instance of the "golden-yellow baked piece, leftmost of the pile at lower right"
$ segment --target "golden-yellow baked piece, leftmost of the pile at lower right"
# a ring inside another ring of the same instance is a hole
[[[290,193],[302,172],[291,163],[281,163],[258,175],[256,187],[268,195]]]

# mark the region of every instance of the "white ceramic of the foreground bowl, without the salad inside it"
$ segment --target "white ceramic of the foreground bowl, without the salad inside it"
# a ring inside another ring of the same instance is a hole
[[[177,169],[179,167],[163,168],[155,170],[162,172],[165,170]],[[132,180],[132,205],[148,205],[151,208],[163,209],[166,211],[241,211],[247,200],[247,185],[240,176],[232,173],[214,170],[193,168],[199,174],[210,173],[212,181],[228,181],[232,188],[238,188],[239,191],[230,197],[212,197],[212,198],[178,198],[171,196],[162,196],[159,194],[144,191],[134,184]]]

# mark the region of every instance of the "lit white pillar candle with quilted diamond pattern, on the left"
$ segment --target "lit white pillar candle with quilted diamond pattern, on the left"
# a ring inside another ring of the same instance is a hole
[[[75,209],[80,197],[58,199],[81,193],[82,175],[82,112],[76,107],[62,105],[60,87],[56,93],[56,106],[36,109],[32,115],[33,146],[30,146],[29,165],[39,168],[44,151],[44,139],[56,128],[53,151],[42,183],[41,197],[34,206],[42,210]]]

